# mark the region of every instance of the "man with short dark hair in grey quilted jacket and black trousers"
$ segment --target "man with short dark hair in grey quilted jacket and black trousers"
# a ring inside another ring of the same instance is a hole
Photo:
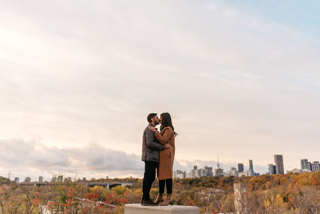
[[[169,148],[170,144],[160,144],[155,139],[154,132],[149,130],[149,126],[155,127],[158,125],[159,118],[156,113],[150,113],[147,117],[149,122],[148,126],[144,129],[143,138],[142,138],[142,156],[141,160],[144,161],[144,177],[142,184],[142,205],[159,205],[159,203],[155,203],[150,199],[150,189],[152,183],[156,178],[156,167],[159,164],[159,150],[163,150],[164,148]]]

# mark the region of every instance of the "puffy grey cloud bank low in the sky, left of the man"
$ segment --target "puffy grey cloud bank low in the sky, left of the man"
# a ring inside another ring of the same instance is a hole
[[[12,139],[0,140],[0,144],[3,145],[0,163],[7,167],[66,169],[67,172],[143,170],[140,156],[93,143],[84,147],[57,148],[36,141]]]

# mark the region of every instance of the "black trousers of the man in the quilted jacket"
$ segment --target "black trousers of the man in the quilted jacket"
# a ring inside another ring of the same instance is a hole
[[[155,161],[144,161],[144,177],[142,183],[142,200],[144,201],[148,201],[150,199],[150,189],[156,178],[156,168],[158,164],[159,163]]]

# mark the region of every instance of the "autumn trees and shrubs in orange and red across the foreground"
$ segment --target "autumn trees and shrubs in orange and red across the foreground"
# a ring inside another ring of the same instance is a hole
[[[80,180],[56,180],[52,185],[37,187],[21,186],[0,177],[0,213],[124,213],[124,204],[140,203],[142,196],[142,179],[127,181],[135,183],[109,190],[102,186],[86,187]],[[237,198],[234,183],[248,187]],[[155,199],[157,179],[150,193]],[[174,179],[172,197],[176,205],[200,207],[200,213],[319,213],[320,171]],[[241,206],[235,206],[237,200]]]

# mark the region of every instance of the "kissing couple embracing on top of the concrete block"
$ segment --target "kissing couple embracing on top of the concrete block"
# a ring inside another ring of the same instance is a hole
[[[144,177],[142,184],[141,205],[172,205],[172,167],[174,160],[174,138],[178,135],[174,132],[171,116],[168,112],[160,114],[150,113],[147,117],[148,126],[144,129],[142,138],[142,156],[144,161]],[[157,125],[160,126],[160,133]],[[156,201],[150,199],[150,189],[157,177],[159,179],[159,193]],[[164,186],[167,187],[166,199],[164,200]]]

